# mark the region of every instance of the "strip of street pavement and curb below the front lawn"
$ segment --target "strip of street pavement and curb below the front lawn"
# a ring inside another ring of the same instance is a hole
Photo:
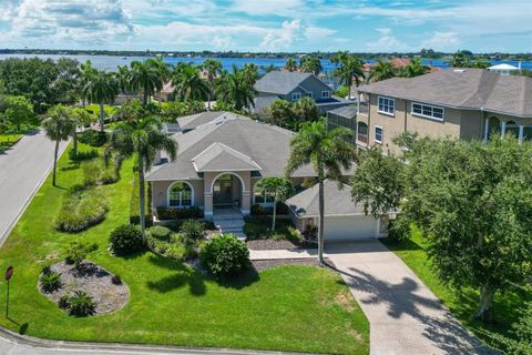
[[[221,354],[221,355],[275,355],[280,352],[238,351],[227,348],[194,348],[156,345],[129,345],[106,343],[73,343],[20,336],[0,327],[1,355],[167,355],[167,354]]]

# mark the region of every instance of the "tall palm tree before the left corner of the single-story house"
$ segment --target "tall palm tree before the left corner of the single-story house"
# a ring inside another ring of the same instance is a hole
[[[141,108],[142,110],[142,108]],[[141,230],[145,237],[145,180],[144,173],[154,164],[157,152],[165,151],[173,161],[177,155],[177,143],[162,131],[161,120],[156,116],[145,116],[142,111],[132,115],[133,119],[119,123],[111,133],[105,156],[113,156],[117,163],[129,156],[134,156],[135,169],[140,183]]]

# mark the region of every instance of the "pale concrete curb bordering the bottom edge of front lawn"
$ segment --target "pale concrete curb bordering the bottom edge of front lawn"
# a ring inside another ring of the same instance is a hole
[[[140,345],[140,344],[120,344],[120,343],[86,343],[86,342],[65,342],[65,341],[50,341],[41,339],[33,336],[20,335],[0,326],[0,339],[6,339],[9,343],[17,345],[25,345],[41,349],[58,349],[58,351],[83,351],[91,352],[106,352],[106,353],[131,353],[131,354],[221,354],[221,355],[301,355],[304,353],[284,353],[269,351],[247,351],[247,349],[231,349],[231,348],[212,348],[212,347],[187,347],[187,346],[163,346],[163,345]],[[39,354],[39,353],[35,353]]]

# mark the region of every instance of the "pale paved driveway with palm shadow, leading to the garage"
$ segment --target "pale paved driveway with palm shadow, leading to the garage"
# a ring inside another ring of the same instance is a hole
[[[370,323],[370,353],[490,354],[378,241],[329,244],[327,256]]]

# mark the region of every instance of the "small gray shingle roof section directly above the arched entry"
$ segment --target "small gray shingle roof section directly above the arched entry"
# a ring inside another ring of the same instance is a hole
[[[215,142],[192,159],[197,172],[214,171],[259,171],[260,166],[249,156]]]

